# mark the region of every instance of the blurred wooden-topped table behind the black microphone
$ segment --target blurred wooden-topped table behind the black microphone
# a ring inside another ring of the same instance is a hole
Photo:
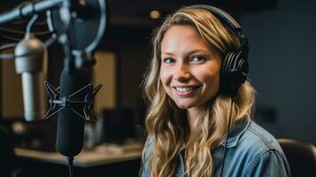
[[[75,177],[138,176],[143,143],[103,144],[74,157]],[[15,148],[22,176],[68,176],[66,157],[58,152]],[[122,170],[124,169],[124,170]]]

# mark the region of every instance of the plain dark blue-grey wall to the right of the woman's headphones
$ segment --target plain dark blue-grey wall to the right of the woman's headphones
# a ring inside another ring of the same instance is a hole
[[[263,126],[277,137],[314,143],[315,8],[315,1],[281,0],[274,9],[246,12],[241,18],[250,38],[250,80],[258,91],[257,109],[269,107],[276,114],[274,121],[262,121]]]

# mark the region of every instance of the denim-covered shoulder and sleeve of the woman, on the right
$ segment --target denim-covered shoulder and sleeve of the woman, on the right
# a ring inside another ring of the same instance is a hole
[[[279,142],[255,122],[250,122],[238,142],[238,148],[248,151],[243,176],[290,175],[289,164]]]

